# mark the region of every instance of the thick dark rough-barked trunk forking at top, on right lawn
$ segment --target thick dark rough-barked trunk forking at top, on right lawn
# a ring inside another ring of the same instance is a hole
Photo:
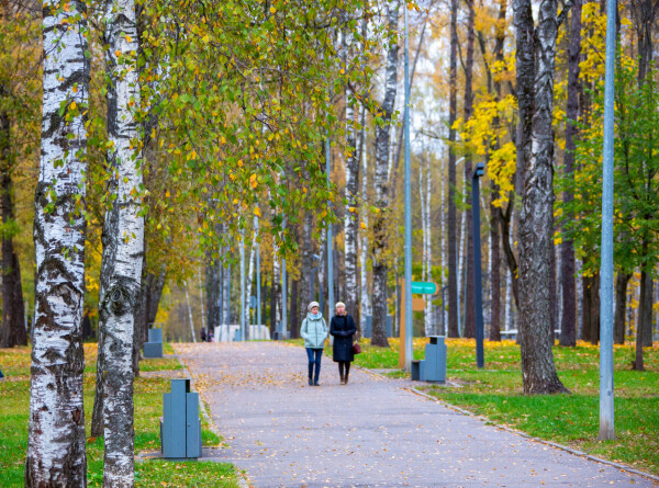
[[[554,364],[550,263],[554,242],[554,67],[558,2],[541,0],[538,26],[530,0],[515,0],[520,215],[520,343],[526,394],[565,393]],[[534,38],[536,39],[534,42]],[[537,44],[536,44],[537,43]],[[536,68],[537,67],[537,68]],[[527,139],[527,136],[530,137]]]

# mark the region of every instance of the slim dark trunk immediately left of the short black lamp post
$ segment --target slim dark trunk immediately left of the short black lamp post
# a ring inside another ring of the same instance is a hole
[[[472,75],[473,75],[473,5],[470,0],[467,0],[467,7],[469,13],[467,15],[467,60],[465,63],[465,122],[471,118],[473,112],[473,89],[472,89]],[[471,173],[473,168],[471,166],[471,156],[468,152],[465,156],[465,186],[469,185],[469,190],[465,192],[467,195],[471,195]],[[465,189],[467,190],[467,189]],[[467,262],[469,272],[467,272],[465,279],[467,280],[467,293],[466,299],[466,314],[465,314],[465,337],[476,337],[476,288],[473,282],[473,208],[466,206],[465,218],[467,225]],[[480,263],[479,263],[480,265]]]

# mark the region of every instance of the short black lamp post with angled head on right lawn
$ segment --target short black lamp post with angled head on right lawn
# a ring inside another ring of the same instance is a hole
[[[485,163],[476,164],[471,177],[471,212],[473,212],[473,284],[476,307],[476,365],[485,367],[483,353],[483,290],[481,283],[481,256],[480,256],[480,177],[484,173]]]

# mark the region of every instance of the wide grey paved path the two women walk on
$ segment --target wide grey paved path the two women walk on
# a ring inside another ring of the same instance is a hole
[[[231,449],[219,459],[256,487],[656,486],[487,425],[356,368],[339,385],[323,358],[306,384],[302,348],[277,342],[176,347]]]

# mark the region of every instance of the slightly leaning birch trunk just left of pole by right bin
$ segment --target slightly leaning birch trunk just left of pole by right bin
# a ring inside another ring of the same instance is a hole
[[[387,21],[390,32],[398,31],[399,2],[393,1],[387,5]],[[382,124],[376,127],[376,207],[378,213],[373,218],[373,240],[371,243],[371,259],[373,265],[373,318],[371,344],[389,347],[387,340],[387,264],[388,249],[388,220],[389,220],[389,146],[391,143],[391,116],[395,104],[398,88],[398,39],[391,42],[387,49],[387,78],[384,86],[384,100],[381,104]]]

